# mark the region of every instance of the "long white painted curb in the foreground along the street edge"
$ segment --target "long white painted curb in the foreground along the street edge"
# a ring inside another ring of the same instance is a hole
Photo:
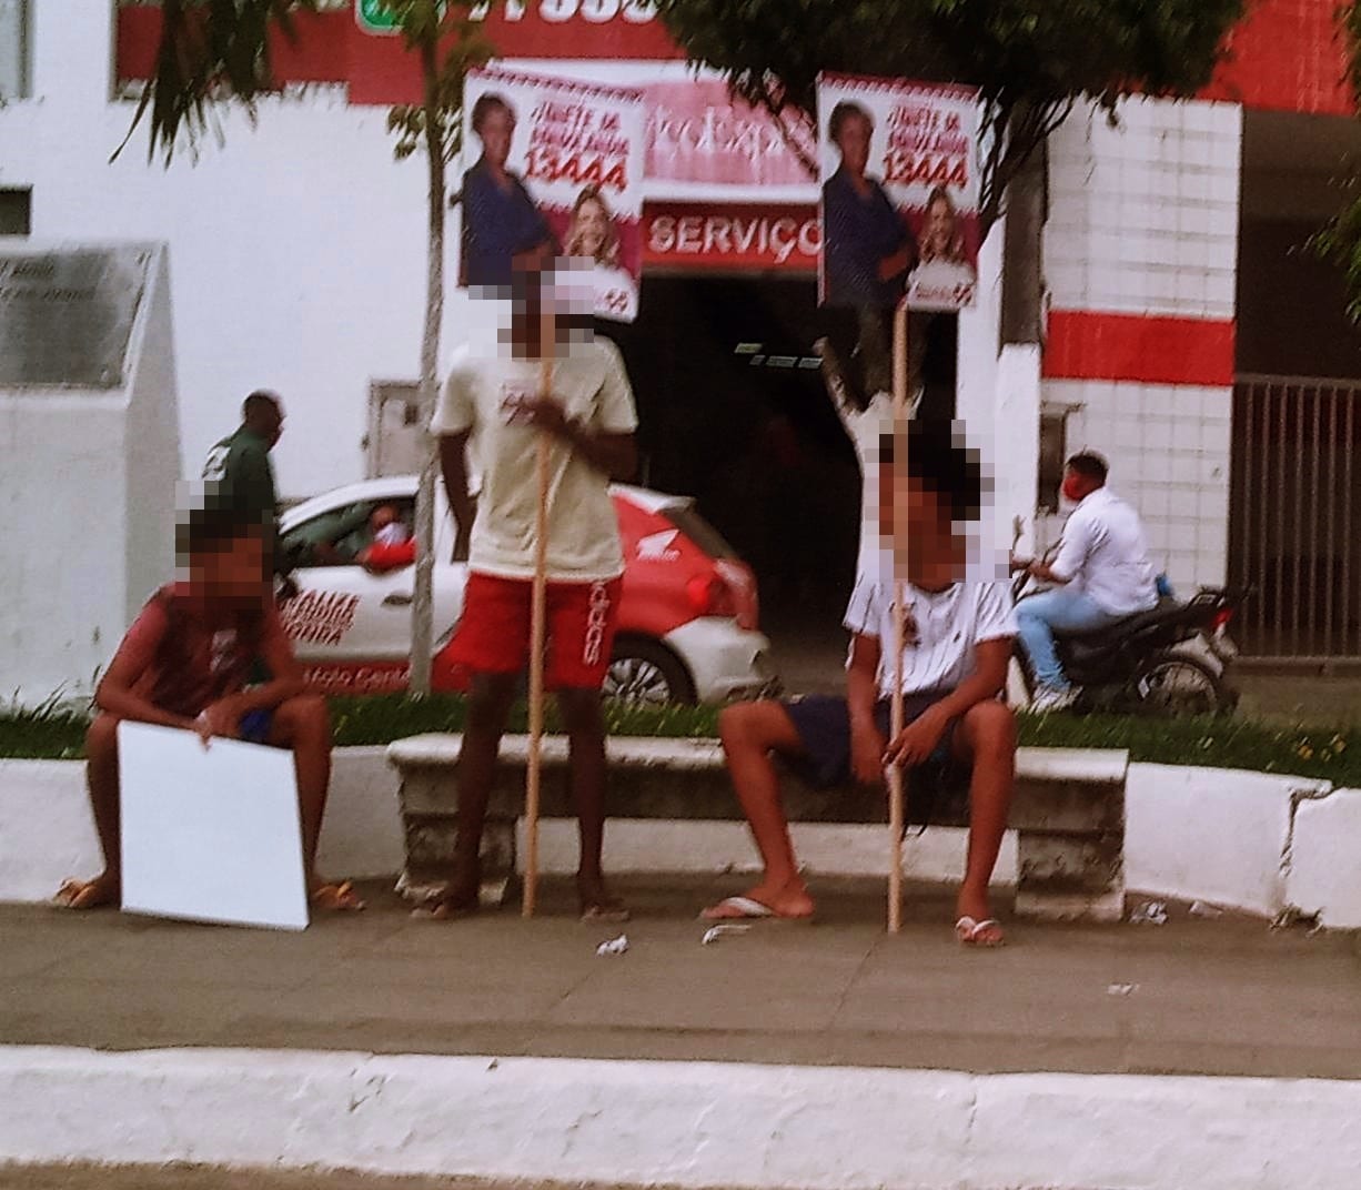
[[[0,1050],[0,1161],[798,1190],[1338,1190],[1361,1082]]]

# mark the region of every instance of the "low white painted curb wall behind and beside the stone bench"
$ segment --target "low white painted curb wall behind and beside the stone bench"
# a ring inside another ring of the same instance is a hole
[[[321,832],[321,870],[388,877],[403,865],[397,777],[387,749],[335,752]],[[1131,764],[1126,787],[1126,885],[1154,896],[1206,900],[1275,916],[1317,914],[1332,929],[1361,929],[1361,792],[1327,782],[1234,769]],[[542,824],[542,870],[576,869],[576,826]],[[811,874],[878,875],[876,826],[800,824],[799,855]],[[611,870],[750,871],[757,855],[740,822],[612,820]],[[932,828],[908,839],[912,878],[954,881],[965,832]],[[994,884],[1015,884],[1007,836]],[[97,871],[99,851],[79,761],[0,760],[0,901],[45,901],[68,875]]]

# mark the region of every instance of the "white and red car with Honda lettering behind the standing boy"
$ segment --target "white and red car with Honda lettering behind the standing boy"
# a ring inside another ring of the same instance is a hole
[[[415,568],[377,570],[357,561],[374,513],[395,515],[389,536],[414,524],[415,475],[336,487],[290,508],[279,549],[297,594],[284,626],[314,689],[378,693],[406,689]],[[770,643],[757,629],[751,570],[686,497],[612,486],[625,549],[623,591],[606,693],[642,703],[724,703],[773,686]],[[467,564],[453,553],[453,517],[442,487],[436,506],[436,689],[460,689],[442,663],[463,611]],[[387,511],[387,509],[391,509]]]

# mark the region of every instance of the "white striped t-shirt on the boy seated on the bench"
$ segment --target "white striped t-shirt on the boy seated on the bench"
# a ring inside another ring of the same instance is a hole
[[[890,562],[856,577],[845,626],[872,636],[879,648],[879,696],[893,696],[893,580]],[[1017,634],[1011,588],[1006,583],[955,583],[923,591],[904,583],[902,693],[953,690],[974,670],[974,649],[985,640]]]

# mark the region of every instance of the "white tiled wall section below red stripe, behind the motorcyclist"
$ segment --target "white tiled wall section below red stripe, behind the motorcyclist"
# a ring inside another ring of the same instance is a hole
[[[1100,451],[1111,487],[1139,509],[1153,561],[1180,591],[1224,583],[1229,534],[1232,391],[1047,380],[1047,402],[1081,406],[1068,452]],[[1062,521],[1048,526],[1049,545]]]

